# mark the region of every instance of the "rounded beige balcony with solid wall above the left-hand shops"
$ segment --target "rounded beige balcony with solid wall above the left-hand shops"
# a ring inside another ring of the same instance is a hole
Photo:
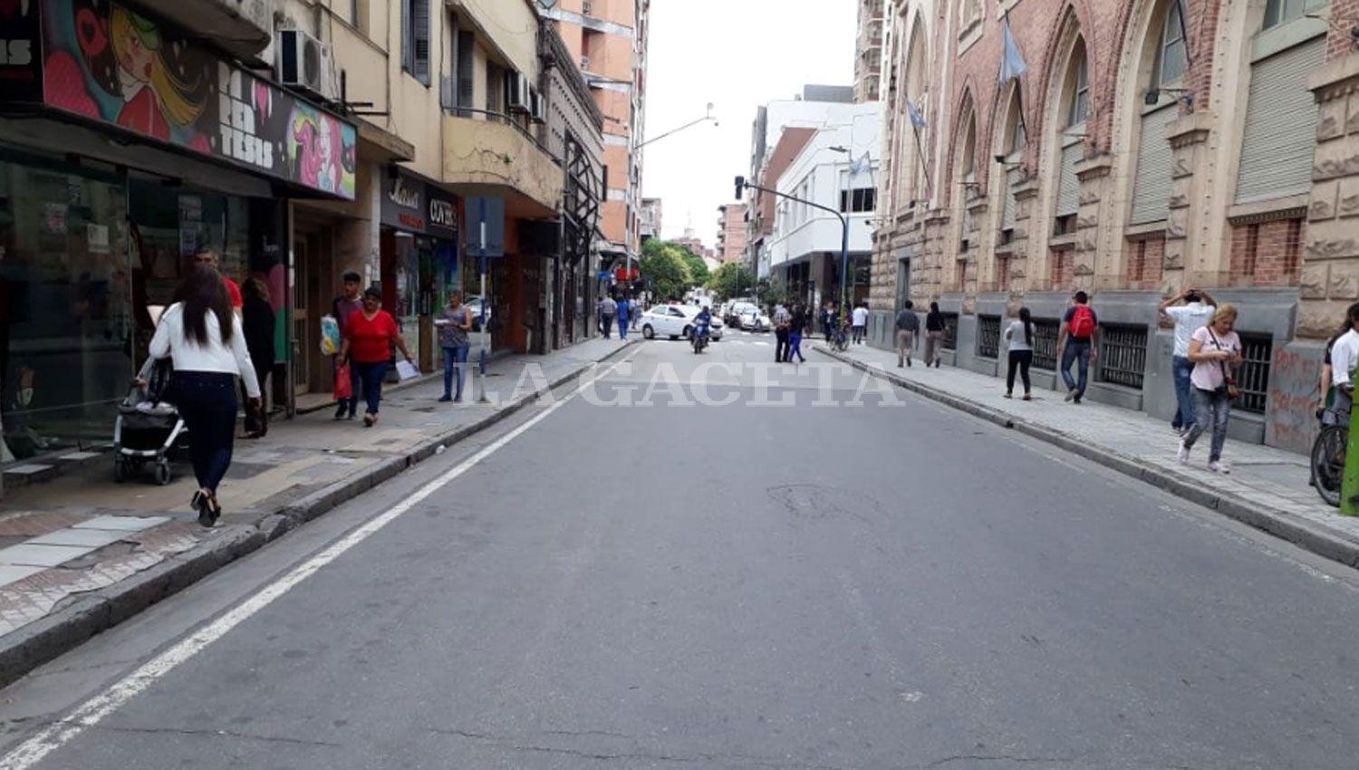
[[[520,219],[557,216],[564,177],[557,159],[500,113],[459,107],[443,117],[443,182],[462,196],[499,196]]]

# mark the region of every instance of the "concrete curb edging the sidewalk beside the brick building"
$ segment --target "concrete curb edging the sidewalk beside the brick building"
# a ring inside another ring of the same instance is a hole
[[[1176,497],[1203,505],[1204,508],[1212,508],[1231,519],[1235,519],[1237,521],[1269,532],[1276,538],[1288,540],[1290,543],[1309,550],[1320,557],[1337,561],[1347,566],[1359,566],[1359,540],[1354,540],[1341,532],[1324,530],[1311,521],[1298,519],[1287,511],[1280,511],[1269,505],[1261,505],[1238,494],[1204,489],[1190,477],[1163,469],[1148,467],[1137,458],[1124,455],[1108,447],[1090,444],[1083,439],[1076,439],[1063,433],[1061,430],[1048,428],[1046,425],[1027,422],[974,401],[959,398],[939,388],[897,376],[887,369],[868,365],[863,361],[832,350],[825,345],[817,345],[814,349],[836,359],[837,361],[843,361],[856,369],[886,379],[897,387],[920,394],[931,401],[951,406],[988,422],[995,422],[1003,428],[1011,428],[1026,436],[1031,436],[1075,455],[1080,455],[1089,460],[1094,460],[1124,475],[1158,486]]]

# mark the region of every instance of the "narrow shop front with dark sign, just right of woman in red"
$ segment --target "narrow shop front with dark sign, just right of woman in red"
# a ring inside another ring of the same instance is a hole
[[[428,179],[387,167],[381,213],[382,304],[410,350],[419,350],[420,371],[429,372],[439,364],[434,319],[463,282],[458,200]]]

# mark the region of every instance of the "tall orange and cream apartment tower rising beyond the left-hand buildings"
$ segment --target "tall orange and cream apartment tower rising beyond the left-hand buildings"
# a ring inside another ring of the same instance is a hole
[[[599,269],[636,261],[641,249],[641,130],[647,107],[651,0],[560,0],[544,11],[579,57],[603,113],[607,190]]]

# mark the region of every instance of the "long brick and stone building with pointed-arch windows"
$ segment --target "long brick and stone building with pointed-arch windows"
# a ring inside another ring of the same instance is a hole
[[[1157,303],[1203,287],[1241,308],[1234,433],[1306,451],[1324,341],[1359,299],[1356,16],[1356,0],[897,1],[878,342],[906,299],[938,300],[950,360],[1003,375],[999,329],[1027,306],[1053,384],[1057,319],[1086,289],[1105,326],[1090,398],[1169,418]],[[1000,83],[1006,18],[1027,72]]]

